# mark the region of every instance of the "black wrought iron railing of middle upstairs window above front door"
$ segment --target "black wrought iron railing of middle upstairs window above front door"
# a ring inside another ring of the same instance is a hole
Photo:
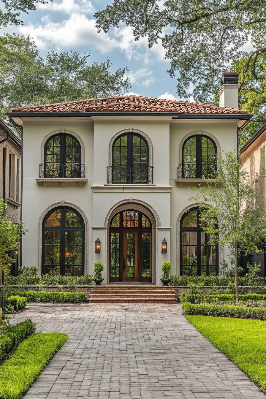
[[[152,184],[152,166],[107,166],[108,184]]]

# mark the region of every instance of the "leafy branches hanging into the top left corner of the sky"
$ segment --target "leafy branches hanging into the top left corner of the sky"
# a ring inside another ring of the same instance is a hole
[[[53,0],[49,0],[53,1]],[[21,12],[36,10],[36,4],[47,4],[45,0],[1,0],[0,3],[0,26],[23,25],[18,19]]]

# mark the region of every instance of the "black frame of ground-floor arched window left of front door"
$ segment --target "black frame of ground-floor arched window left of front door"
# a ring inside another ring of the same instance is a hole
[[[61,209],[61,223],[60,227],[45,227],[45,223],[49,216],[56,211],[57,209]],[[65,212],[66,209],[70,209],[71,211],[74,211],[80,221],[81,221],[81,227],[66,227],[65,226]],[[83,220],[83,217],[77,211],[76,209],[70,207],[70,206],[58,206],[53,209],[51,209],[47,214],[45,215],[42,223],[42,245],[41,245],[41,274],[48,274],[45,273],[45,264],[44,264],[44,253],[45,253],[45,231],[60,231],[60,275],[64,276],[65,275],[65,231],[82,231],[82,252],[81,252],[81,275],[84,275],[84,259],[85,259],[85,223]]]

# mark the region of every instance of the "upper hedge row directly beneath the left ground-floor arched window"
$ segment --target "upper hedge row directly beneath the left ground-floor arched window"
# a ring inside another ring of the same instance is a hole
[[[6,276],[6,285],[91,285],[93,276]]]

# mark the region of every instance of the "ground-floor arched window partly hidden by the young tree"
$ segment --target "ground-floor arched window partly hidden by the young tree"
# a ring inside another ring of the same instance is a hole
[[[203,231],[199,208],[190,209],[180,222],[180,275],[218,276],[218,267],[218,245]]]

